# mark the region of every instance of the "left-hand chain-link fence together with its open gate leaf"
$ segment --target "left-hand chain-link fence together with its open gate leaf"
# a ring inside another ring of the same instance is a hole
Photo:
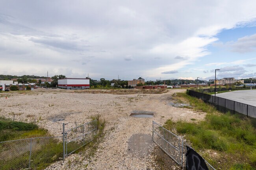
[[[93,141],[97,126],[97,119],[67,131],[63,124],[63,136],[0,142],[0,170],[46,168]]]

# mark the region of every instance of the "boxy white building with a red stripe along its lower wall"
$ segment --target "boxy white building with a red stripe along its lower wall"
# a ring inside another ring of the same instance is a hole
[[[63,89],[89,89],[90,79],[65,78],[58,80],[58,88]]]

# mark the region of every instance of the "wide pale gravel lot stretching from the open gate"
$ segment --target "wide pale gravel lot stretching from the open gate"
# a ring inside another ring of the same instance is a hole
[[[106,120],[106,135],[95,157],[83,160],[83,155],[72,154],[64,163],[59,161],[47,169],[119,169],[149,170],[157,169],[154,155],[136,157],[128,152],[128,142],[132,135],[143,133],[152,135],[152,121],[164,124],[167,119],[203,119],[205,114],[187,108],[176,108],[169,104],[174,92],[162,94],[110,94],[110,93],[74,93],[67,91],[33,91],[33,93],[8,93],[9,97],[0,97],[0,115],[15,120],[32,122],[49,130],[52,135],[61,136],[62,123],[67,128],[90,121],[90,117],[99,114]],[[0,93],[4,95],[4,93]],[[154,112],[152,118],[136,118],[129,115],[134,111]],[[59,121],[60,120],[60,121]],[[80,161],[78,161],[80,160]],[[79,162],[79,163],[78,163]],[[68,166],[69,164],[69,166]]]

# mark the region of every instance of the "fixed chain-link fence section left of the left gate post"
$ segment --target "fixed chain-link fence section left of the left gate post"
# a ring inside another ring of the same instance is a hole
[[[36,137],[0,142],[0,169],[45,168],[62,159],[62,137]]]

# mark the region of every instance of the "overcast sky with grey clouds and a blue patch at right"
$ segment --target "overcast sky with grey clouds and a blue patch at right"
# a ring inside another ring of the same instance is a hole
[[[255,0],[0,0],[0,74],[256,77]]]

